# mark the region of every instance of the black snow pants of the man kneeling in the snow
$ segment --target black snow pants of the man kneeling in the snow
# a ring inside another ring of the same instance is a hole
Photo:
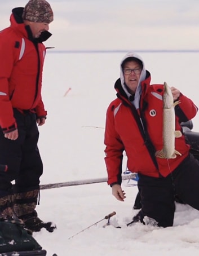
[[[166,178],[139,174],[140,219],[147,216],[160,227],[173,226],[176,195],[184,204],[199,210],[198,184],[199,161],[191,154]]]

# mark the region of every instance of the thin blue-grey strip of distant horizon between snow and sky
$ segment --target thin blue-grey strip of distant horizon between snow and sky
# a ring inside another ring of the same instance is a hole
[[[51,50],[54,47],[46,47],[46,49]],[[98,54],[98,53],[124,53],[124,52],[129,52],[132,50],[52,50],[48,51],[48,53],[51,54]],[[153,52],[153,53],[178,53],[178,52],[184,52],[184,53],[192,53],[192,52],[199,52],[199,49],[181,49],[181,50],[176,50],[176,49],[159,49],[159,50],[153,50],[153,49],[147,49],[147,50],[134,50],[134,52]]]

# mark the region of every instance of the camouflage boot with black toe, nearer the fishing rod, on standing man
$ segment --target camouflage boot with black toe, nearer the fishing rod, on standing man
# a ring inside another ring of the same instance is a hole
[[[41,228],[46,228],[47,231],[53,232],[56,226],[51,222],[43,222],[37,216],[36,205],[39,190],[15,193],[14,211],[19,219],[25,223],[25,228],[32,232],[41,231]]]

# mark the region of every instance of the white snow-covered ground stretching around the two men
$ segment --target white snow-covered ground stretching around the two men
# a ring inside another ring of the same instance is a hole
[[[48,117],[46,124],[39,127],[39,149],[44,164],[41,184],[107,176],[103,144],[105,112],[116,95],[113,86],[120,74],[123,55],[47,53],[42,95]],[[140,55],[152,74],[152,83],[166,81],[199,106],[199,54]],[[194,131],[199,131],[198,115],[193,126]],[[124,171],[125,161],[126,157]],[[47,256],[53,253],[58,256],[198,255],[197,210],[176,204],[174,227],[158,228],[140,223],[126,227],[138,212],[132,210],[138,188],[126,184],[126,181],[122,184],[125,202],[112,196],[107,183],[41,190],[38,215],[57,226],[53,233],[42,229],[33,234],[47,250]],[[110,223],[121,229],[103,228],[107,220],[91,226],[112,211],[116,211],[116,215],[110,218]]]

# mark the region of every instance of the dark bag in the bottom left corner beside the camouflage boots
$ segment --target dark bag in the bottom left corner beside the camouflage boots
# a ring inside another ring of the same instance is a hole
[[[19,252],[18,255],[46,255],[46,251],[42,250],[41,245],[23,227],[23,224],[18,221],[0,219],[0,253],[3,253],[1,255],[14,255],[7,254],[14,251]]]

